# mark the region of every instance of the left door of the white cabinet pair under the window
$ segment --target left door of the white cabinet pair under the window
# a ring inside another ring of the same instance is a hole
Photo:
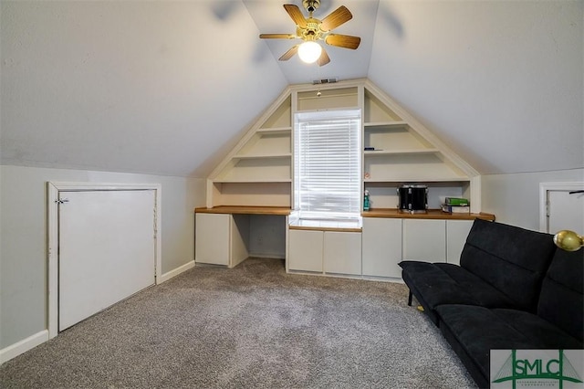
[[[323,232],[302,229],[288,231],[288,268],[322,271]]]

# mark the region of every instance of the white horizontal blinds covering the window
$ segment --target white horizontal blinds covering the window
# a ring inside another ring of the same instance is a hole
[[[300,218],[360,216],[360,110],[295,117],[295,208]]]

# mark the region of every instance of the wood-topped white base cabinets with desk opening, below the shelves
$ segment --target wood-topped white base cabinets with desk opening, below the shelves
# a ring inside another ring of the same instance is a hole
[[[233,268],[248,257],[284,258],[289,273],[401,280],[403,259],[457,264],[475,218],[373,209],[359,222],[299,220],[287,207],[216,206],[195,210],[197,264]]]

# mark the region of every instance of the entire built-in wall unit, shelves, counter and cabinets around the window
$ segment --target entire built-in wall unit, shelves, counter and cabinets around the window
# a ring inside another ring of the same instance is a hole
[[[341,117],[349,130],[340,130]],[[329,155],[316,141],[331,139],[319,132],[325,127],[334,127],[335,144],[343,140],[356,148],[347,148],[353,153],[343,156],[349,162],[341,167],[315,164],[310,170],[311,159],[300,152],[312,150],[315,161]],[[336,177],[346,173],[350,189],[320,185],[324,178],[301,183],[320,172],[339,182]],[[398,212],[403,186],[427,188],[424,209],[431,209]],[[318,212],[328,195],[331,203],[349,204],[359,221],[298,219],[293,211],[305,211],[306,194],[325,199],[311,203]],[[443,213],[446,197],[467,199],[470,213]],[[360,204],[371,210],[359,215]],[[251,256],[285,258],[289,273],[363,279],[401,280],[397,264],[403,259],[458,263],[473,220],[495,218],[481,213],[480,174],[369,79],[288,86],[209,174],[205,205],[195,209],[197,264],[235,267]]]

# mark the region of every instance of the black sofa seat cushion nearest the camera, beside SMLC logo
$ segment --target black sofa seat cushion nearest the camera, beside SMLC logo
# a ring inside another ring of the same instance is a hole
[[[436,307],[440,329],[469,369],[489,377],[491,350],[581,349],[582,342],[524,310],[470,305]],[[477,380],[477,384],[481,381]]]

